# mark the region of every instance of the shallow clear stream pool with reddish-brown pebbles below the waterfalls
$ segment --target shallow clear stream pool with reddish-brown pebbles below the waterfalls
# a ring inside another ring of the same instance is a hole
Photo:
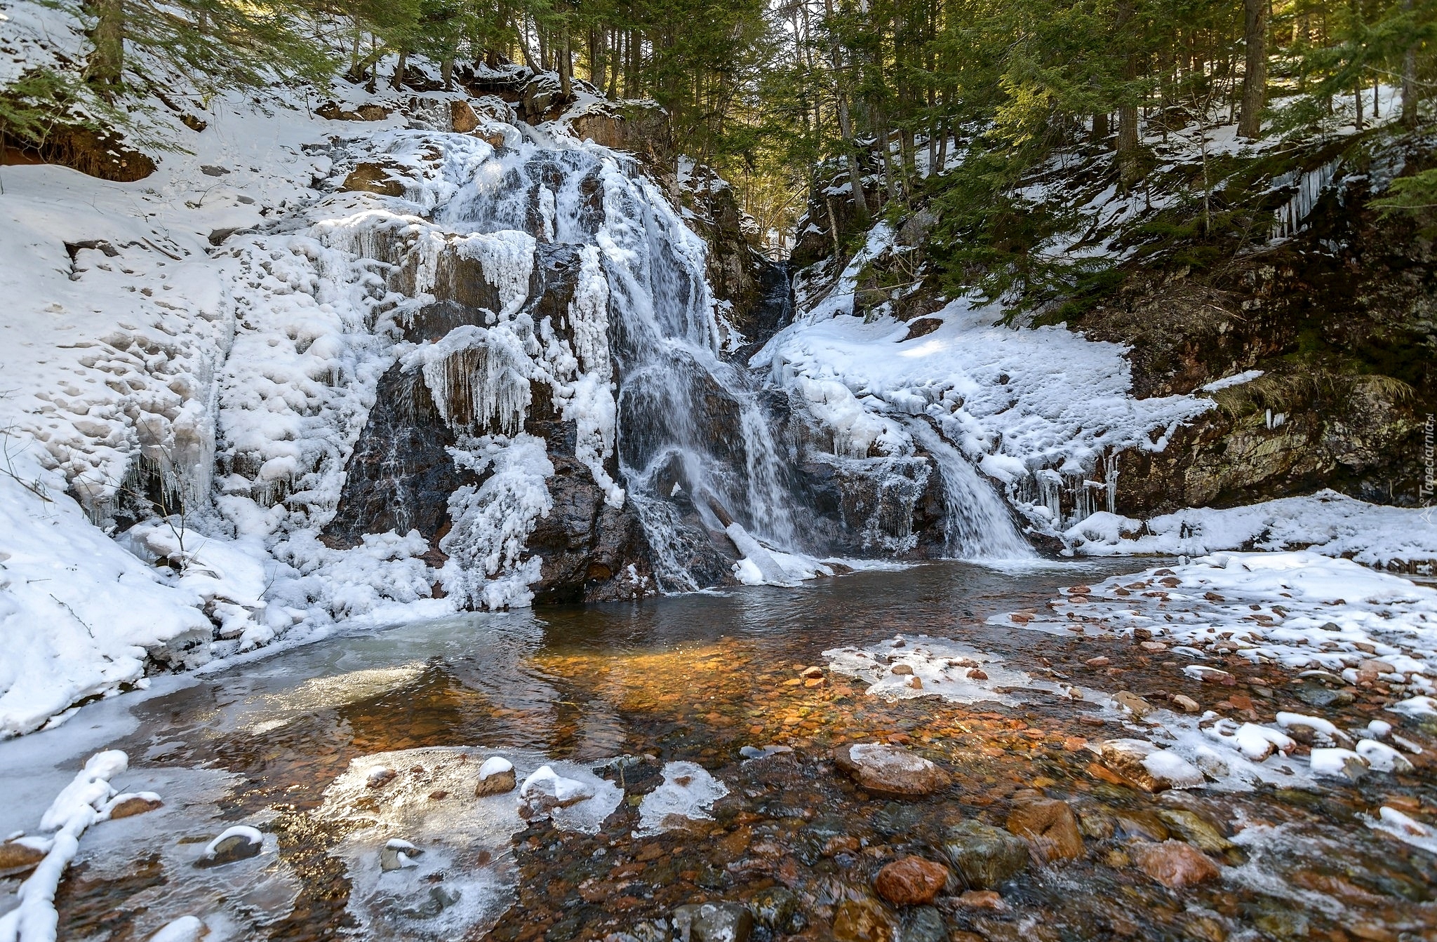
[[[1292,676],[1249,665],[1214,692],[1132,640],[986,623],[1145,564],[946,561],[332,636],[155,678],[0,742],[0,830],[33,829],[99,748],[129,754],[118,788],[161,796],[85,834],[60,939],[145,939],[194,915],[211,939],[650,942],[680,938],[675,912],[704,902],[744,905],[752,939],[1437,938],[1437,860],[1362,817],[1431,806],[1430,777],[1150,794],[1094,761],[1091,744],[1140,735],[1099,706],[1119,688],[1306,709]],[[994,684],[879,696],[823,653],[875,645],[967,652]],[[1102,656],[1121,666],[1088,663]],[[1361,725],[1375,709],[1359,696],[1325,715]],[[854,742],[911,750],[948,781],[869,794],[833,761]],[[519,781],[547,764],[592,797],[526,821],[516,793],[474,796],[494,755]],[[964,823],[1004,827],[1033,790],[1072,810],[1075,854],[1039,841],[992,880],[953,866],[931,906],[875,892],[900,857],[948,866]],[[257,827],[260,853],[197,866],[231,824]],[[1151,879],[1138,862],[1168,840],[1220,876]],[[17,882],[0,880],[4,897]]]

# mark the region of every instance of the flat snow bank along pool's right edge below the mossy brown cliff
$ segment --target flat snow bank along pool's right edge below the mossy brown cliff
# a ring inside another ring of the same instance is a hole
[[[1368,504],[1336,491],[1226,510],[1186,508],[1145,523],[1095,513],[1063,538],[1085,556],[1305,549],[1367,566],[1437,559],[1437,521],[1424,510]]]

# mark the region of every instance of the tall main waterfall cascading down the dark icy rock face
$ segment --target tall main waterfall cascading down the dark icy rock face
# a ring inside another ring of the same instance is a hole
[[[450,231],[527,231],[595,247],[619,381],[618,455],[662,587],[697,589],[685,561],[730,518],[798,549],[790,471],[749,375],[720,359],[704,246],[660,191],[591,148],[523,144],[486,161],[438,214]],[[687,531],[685,531],[687,530]]]

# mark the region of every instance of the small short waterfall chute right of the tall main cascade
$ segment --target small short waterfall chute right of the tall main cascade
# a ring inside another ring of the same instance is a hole
[[[957,559],[1032,559],[1033,547],[1013,526],[1007,504],[973,464],[923,419],[908,429],[938,468],[943,482],[944,551]]]

